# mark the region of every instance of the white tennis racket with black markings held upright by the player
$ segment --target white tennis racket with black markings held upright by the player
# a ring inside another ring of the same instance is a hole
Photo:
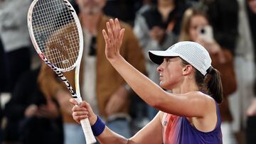
[[[34,0],[28,10],[28,31],[41,59],[63,80],[78,103],[82,101],[79,70],[82,59],[82,28],[68,0]],[[62,72],[75,68],[75,89]],[[80,121],[87,143],[95,143],[88,119]]]

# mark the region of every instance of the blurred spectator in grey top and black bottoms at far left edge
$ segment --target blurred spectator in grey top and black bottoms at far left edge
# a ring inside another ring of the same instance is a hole
[[[6,85],[10,93],[18,77],[29,70],[31,65],[28,49],[31,47],[31,40],[26,21],[30,4],[31,0],[8,0],[0,5],[0,37],[4,45]]]

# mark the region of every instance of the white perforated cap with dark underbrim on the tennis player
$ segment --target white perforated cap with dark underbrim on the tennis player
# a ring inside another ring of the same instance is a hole
[[[158,65],[161,65],[164,57],[181,57],[204,76],[211,64],[210,55],[206,48],[191,41],[176,43],[167,50],[149,50],[150,60]]]

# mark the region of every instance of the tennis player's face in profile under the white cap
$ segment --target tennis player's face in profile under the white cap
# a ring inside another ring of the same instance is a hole
[[[180,57],[166,57],[156,69],[159,72],[160,87],[173,89],[182,81],[183,65]]]

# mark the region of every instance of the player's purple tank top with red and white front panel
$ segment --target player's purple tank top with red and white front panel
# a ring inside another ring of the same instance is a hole
[[[217,125],[213,131],[202,132],[191,126],[188,119],[164,113],[164,144],[222,144],[220,111],[216,103]]]

